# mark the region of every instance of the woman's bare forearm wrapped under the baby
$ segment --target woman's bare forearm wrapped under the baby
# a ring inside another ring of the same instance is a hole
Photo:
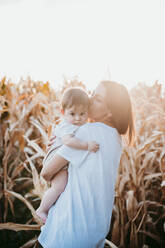
[[[68,164],[68,161],[61,157],[58,154],[55,154],[54,157],[44,166],[41,170],[41,176],[46,181],[51,181],[54,175],[59,172],[64,166]]]

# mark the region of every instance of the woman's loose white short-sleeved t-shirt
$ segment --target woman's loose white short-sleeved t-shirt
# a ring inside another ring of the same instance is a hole
[[[109,231],[121,137],[99,122],[81,126],[76,137],[96,141],[100,149],[88,156],[67,146],[58,149],[70,161],[68,183],[41,228],[38,240],[44,248],[103,248]]]

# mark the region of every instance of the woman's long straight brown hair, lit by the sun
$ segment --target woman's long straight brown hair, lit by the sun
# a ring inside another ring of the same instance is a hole
[[[113,81],[101,81],[106,89],[106,103],[112,113],[112,125],[119,134],[126,134],[128,143],[135,135],[131,99],[124,85]]]

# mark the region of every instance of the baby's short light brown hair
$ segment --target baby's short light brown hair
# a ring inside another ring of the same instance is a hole
[[[61,99],[61,107],[63,110],[80,105],[85,108],[89,107],[89,97],[83,89],[72,87],[64,91]]]

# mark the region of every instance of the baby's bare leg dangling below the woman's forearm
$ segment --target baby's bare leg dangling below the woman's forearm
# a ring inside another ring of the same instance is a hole
[[[60,194],[64,191],[68,181],[68,171],[63,169],[59,171],[51,181],[51,187],[45,192],[41,204],[37,209],[37,215],[46,221],[50,207],[56,202]]]

